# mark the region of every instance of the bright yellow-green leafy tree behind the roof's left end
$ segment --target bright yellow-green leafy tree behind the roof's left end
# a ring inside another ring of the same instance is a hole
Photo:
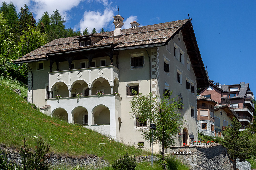
[[[20,37],[18,48],[20,54],[24,56],[25,54],[46,43],[46,34],[41,34],[40,30],[38,30],[36,27],[29,27],[28,31],[24,31],[23,35]]]

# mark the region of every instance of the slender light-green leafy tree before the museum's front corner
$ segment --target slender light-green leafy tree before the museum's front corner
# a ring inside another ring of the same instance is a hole
[[[161,144],[162,160],[164,160],[164,146],[168,147],[175,144],[174,136],[183,124],[178,109],[180,107],[179,101],[170,98],[169,93],[165,93],[164,96],[160,99],[158,95],[154,96],[152,93],[148,95],[139,93],[130,101],[132,111],[129,112],[135,119],[143,122],[151,121],[156,124],[153,143]],[[140,129],[140,131],[144,139],[151,141],[151,131],[148,126]]]

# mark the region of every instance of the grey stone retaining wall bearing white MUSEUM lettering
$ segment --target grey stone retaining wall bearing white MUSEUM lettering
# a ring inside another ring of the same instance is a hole
[[[218,143],[172,147],[170,155],[175,155],[193,170],[233,170],[227,149]]]

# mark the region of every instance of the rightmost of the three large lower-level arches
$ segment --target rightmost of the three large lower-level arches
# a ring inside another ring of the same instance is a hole
[[[105,105],[97,105],[92,109],[92,124],[110,124],[110,110]]]

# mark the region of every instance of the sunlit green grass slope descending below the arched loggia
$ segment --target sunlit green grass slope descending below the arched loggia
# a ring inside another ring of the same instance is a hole
[[[33,109],[31,104],[0,81],[0,143],[21,147],[26,138],[35,147],[40,136],[50,145],[50,152],[73,156],[93,154],[113,163],[120,156],[150,154],[141,149],[115,142],[79,125],[51,118]],[[100,149],[99,143],[105,143]]]

